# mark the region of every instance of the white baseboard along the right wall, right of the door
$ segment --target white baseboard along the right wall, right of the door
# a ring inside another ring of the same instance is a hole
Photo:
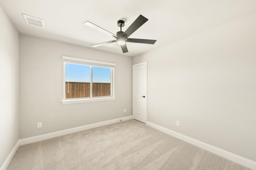
[[[154,129],[157,129],[159,131],[162,131],[164,133],[167,133],[168,135],[172,135],[178,139],[181,139],[182,141],[186,141],[188,143],[191,143],[193,145],[196,145],[202,149],[205,149],[205,150],[208,150],[214,154],[217,154],[219,156],[222,156],[224,158],[227,158],[229,160],[232,160],[238,164],[241,164],[243,166],[246,166],[248,168],[251,168],[253,170],[256,170],[256,162],[252,161],[252,160],[249,160],[247,158],[244,158],[242,156],[238,156],[236,154],[233,154],[231,152],[228,152],[226,150],[223,150],[223,149],[220,149],[220,148],[217,148],[217,147],[214,147],[212,145],[208,145],[207,143],[203,143],[201,141],[198,141],[196,139],[193,139],[191,137],[187,137],[185,135],[182,135],[180,133],[177,133],[175,131],[172,131],[170,129],[166,129],[165,127],[162,127],[162,126],[159,126],[159,125],[156,125],[154,123],[151,123],[149,121],[146,122],[146,125],[150,126],[150,127],[153,127]]]

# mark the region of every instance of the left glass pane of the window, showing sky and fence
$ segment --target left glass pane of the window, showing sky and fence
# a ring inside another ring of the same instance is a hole
[[[90,97],[90,66],[65,63],[66,99]]]

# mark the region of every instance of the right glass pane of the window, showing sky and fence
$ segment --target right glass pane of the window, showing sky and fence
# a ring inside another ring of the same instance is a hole
[[[92,97],[111,95],[111,68],[92,67]]]

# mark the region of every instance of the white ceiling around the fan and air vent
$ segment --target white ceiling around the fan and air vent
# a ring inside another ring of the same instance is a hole
[[[21,34],[80,45],[102,51],[136,56],[256,12],[256,0],[0,0]],[[28,25],[22,14],[41,18],[44,28]],[[127,43],[122,53],[116,43],[90,47],[114,40],[83,23],[90,21],[111,33],[125,31],[139,16],[148,21],[130,38],[156,39],[154,45]],[[1,25],[3,26],[3,25]]]

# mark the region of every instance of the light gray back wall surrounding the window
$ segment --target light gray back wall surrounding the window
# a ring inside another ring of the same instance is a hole
[[[116,63],[116,99],[63,105],[62,55]],[[20,35],[20,139],[129,115],[131,57]],[[37,128],[37,122],[42,122],[42,128]]]

